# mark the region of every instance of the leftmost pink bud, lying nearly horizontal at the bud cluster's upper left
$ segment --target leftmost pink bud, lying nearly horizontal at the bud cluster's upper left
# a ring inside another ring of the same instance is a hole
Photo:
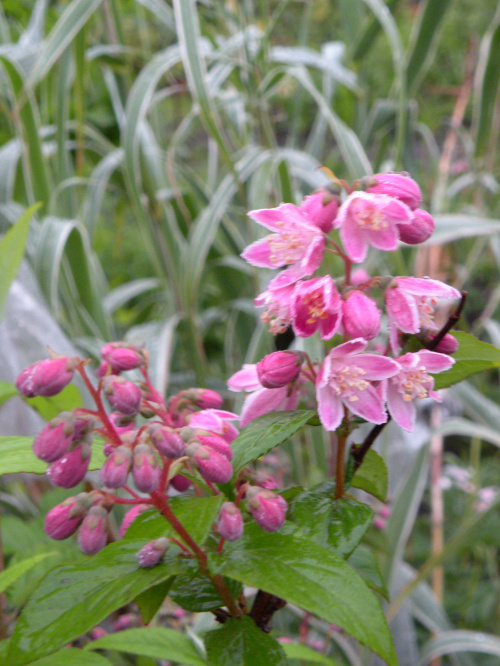
[[[57,395],[73,379],[75,359],[68,356],[48,358],[30,365],[16,380],[17,390],[25,398]]]

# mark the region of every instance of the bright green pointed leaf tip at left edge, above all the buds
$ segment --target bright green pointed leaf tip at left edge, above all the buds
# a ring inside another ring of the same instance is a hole
[[[5,313],[10,285],[17,275],[24,256],[31,218],[40,205],[35,204],[25,210],[0,240],[0,321]]]

